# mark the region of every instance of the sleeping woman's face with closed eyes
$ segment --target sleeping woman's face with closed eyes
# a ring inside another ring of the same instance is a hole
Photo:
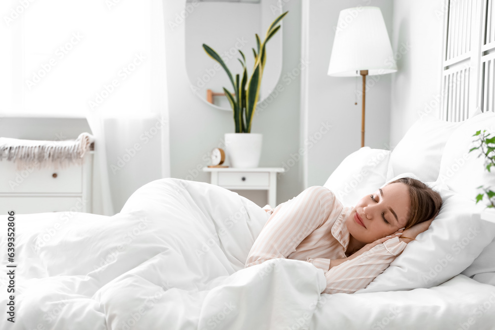
[[[405,184],[394,183],[361,198],[346,219],[351,236],[371,243],[405,227],[409,214],[409,190]]]

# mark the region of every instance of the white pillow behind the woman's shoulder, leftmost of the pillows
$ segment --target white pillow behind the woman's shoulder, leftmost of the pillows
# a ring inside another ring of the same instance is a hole
[[[385,183],[389,158],[389,150],[362,147],[339,164],[323,187],[332,190],[344,206],[354,206]]]

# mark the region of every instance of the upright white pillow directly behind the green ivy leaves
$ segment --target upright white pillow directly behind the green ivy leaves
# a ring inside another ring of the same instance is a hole
[[[454,131],[448,139],[437,181],[448,186],[449,189],[474,199],[481,192],[477,188],[481,185],[495,188],[495,172],[485,170],[484,157],[478,157],[480,152],[469,152],[473,147],[473,134],[479,130],[495,133],[495,113],[485,112],[469,118]]]

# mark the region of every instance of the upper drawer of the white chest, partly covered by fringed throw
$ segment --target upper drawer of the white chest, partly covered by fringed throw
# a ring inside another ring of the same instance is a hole
[[[0,161],[0,193],[82,192],[82,166],[63,169],[35,168],[17,171],[16,164]]]

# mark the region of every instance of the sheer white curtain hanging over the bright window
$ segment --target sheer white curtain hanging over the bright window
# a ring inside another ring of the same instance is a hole
[[[5,0],[0,10],[1,110],[87,118],[95,213],[170,176],[162,0]]]

